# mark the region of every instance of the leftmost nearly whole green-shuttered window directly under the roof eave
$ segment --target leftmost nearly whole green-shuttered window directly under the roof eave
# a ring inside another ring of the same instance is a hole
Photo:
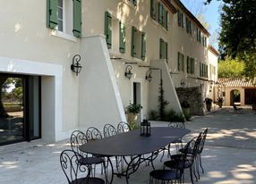
[[[150,16],[153,20],[158,21],[166,30],[170,28],[170,14],[165,9],[164,4],[150,0]]]

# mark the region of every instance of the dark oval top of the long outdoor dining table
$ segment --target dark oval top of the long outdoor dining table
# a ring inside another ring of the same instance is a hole
[[[141,137],[140,129],[116,136],[90,141],[80,146],[81,151],[94,155],[130,156],[150,154],[182,138],[190,130],[167,127],[152,127],[151,136]]]

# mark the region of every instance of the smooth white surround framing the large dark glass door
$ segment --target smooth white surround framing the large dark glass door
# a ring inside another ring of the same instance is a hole
[[[63,66],[0,57],[0,72],[42,76],[42,139],[63,138]]]

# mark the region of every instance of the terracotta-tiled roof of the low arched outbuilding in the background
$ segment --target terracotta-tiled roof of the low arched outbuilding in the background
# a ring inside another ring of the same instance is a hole
[[[233,88],[256,88],[256,78],[254,78],[253,81],[246,78],[219,78],[217,84],[218,86]]]

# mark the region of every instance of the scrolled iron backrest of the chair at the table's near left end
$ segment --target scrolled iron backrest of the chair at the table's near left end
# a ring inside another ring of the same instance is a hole
[[[78,164],[80,156],[73,150],[64,150],[60,155],[61,167],[69,184],[79,184],[78,175],[83,178],[89,177],[90,171],[88,167]]]

